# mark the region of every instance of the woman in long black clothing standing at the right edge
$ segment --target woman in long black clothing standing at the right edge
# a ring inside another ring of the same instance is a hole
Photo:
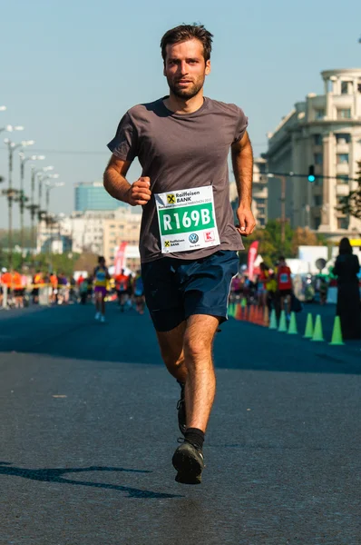
[[[361,339],[359,270],[358,258],[353,255],[349,240],[343,238],[339,244],[334,274],[337,275],[338,287],[337,315],[344,339]]]

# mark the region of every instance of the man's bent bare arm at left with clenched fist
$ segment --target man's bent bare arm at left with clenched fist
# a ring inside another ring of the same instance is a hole
[[[148,176],[141,176],[136,182],[129,183],[125,176],[130,166],[130,161],[122,161],[112,155],[104,172],[104,187],[118,201],[132,206],[146,204],[151,200],[151,180]]]

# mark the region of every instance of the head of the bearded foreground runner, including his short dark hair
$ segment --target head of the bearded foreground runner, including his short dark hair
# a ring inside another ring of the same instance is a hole
[[[210,74],[212,35],[203,25],[180,25],[161,38],[164,75],[171,93],[189,100]]]

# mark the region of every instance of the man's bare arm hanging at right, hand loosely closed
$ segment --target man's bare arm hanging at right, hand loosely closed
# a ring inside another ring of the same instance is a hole
[[[248,236],[255,228],[256,222],[251,211],[253,152],[249,141],[249,134],[242,136],[239,142],[231,147],[233,173],[239,193],[239,233]]]

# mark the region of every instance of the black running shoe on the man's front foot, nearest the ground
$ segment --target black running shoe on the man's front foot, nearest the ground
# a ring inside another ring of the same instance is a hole
[[[200,484],[204,469],[203,452],[188,441],[184,441],[174,452],[172,464],[176,469],[175,480],[182,484]]]

